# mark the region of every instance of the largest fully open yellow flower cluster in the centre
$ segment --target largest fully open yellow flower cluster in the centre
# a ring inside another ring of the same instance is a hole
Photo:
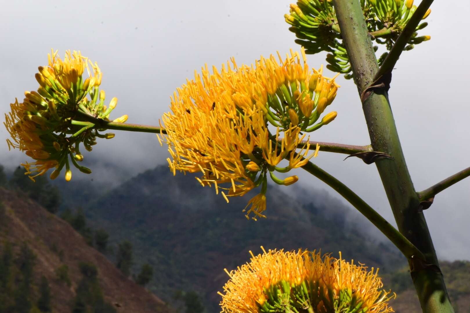
[[[254,219],[265,217],[268,172],[275,183],[295,183],[297,176],[281,180],[274,171],[301,167],[318,153],[316,147],[307,155],[310,145],[302,144],[306,135],[301,131],[316,130],[336,117],[331,112],[315,123],[336,97],[334,78],[322,76],[322,69],[309,72],[303,49],[302,64],[299,53],[291,51],[285,60],[279,53],[278,57],[279,63],[271,55],[261,57],[255,66],[241,67],[232,58],[232,66],[227,62],[220,72],[212,67],[212,74],[206,65],[202,75],[195,72],[193,80],[174,92],[172,112],[163,116],[167,135],[162,136],[169,146],[173,174],[203,173],[199,182],[213,184],[216,193],[221,189],[227,202],[227,197],[242,196],[262,185],[261,193],[250,201],[247,218],[251,213]],[[298,147],[301,150],[295,153]],[[277,168],[284,158],[289,165]]]

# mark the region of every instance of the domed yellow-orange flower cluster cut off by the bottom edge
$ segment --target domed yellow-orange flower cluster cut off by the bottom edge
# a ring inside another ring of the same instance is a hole
[[[225,313],[309,312],[386,313],[395,295],[382,290],[378,269],[320,253],[283,252],[263,247],[263,254],[228,272],[220,303]]]

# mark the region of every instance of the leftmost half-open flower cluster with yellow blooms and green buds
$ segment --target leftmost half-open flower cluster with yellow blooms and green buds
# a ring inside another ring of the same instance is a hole
[[[89,77],[82,77],[84,71]],[[83,160],[79,145],[87,151],[96,145],[96,137],[112,138],[114,134],[100,134],[94,122],[109,121],[111,111],[116,107],[117,98],[104,105],[105,92],[99,90],[102,73],[79,52],[66,53],[62,61],[57,52],[49,54],[47,67],[39,67],[35,75],[39,83],[37,92],[25,92],[22,103],[17,100],[10,105],[5,126],[12,139],[8,147],[19,148],[35,162],[26,162],[26,174],[33,177],[44,175],[49,168],[55,168],[50,177],[56,178],[65,166],[65,178],[71,179],[70,163],[83,173],[89,168],[80,166]],[[89,96],[89,99],[87,98]],[[115,122],[125,122],[124,115]]]

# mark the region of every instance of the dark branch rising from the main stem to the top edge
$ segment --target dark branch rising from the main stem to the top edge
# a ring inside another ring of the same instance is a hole
[[[413,33],[416,31],[416,27],[418,26],[419,22],[423,19],[424,14],[431,6],[433,0],[422,0],[419,4],[418,8],[416,8],[415,13],[410,17],[408,23],[406,24],[405,28],[398,36],[397,41],[392,46],[392,49],[386,56],[384,63],[376,73],[374,80],[377,80],[380,76],[384,75],[392,71],[393,67],[398,61],[400,54],[403,52],[403,49],[408,43],[408,40],[411,38]]]

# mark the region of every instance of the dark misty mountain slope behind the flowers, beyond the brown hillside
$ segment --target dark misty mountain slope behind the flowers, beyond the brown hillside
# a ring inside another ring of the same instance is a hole
[[[260,245],[321,248],[335,255],[342,251],[345,259],[388,271],[406,264],[394,247],[377,244],[352,224],[350,210],[344,206],[329,207],[324,199],[303,203],[270,186],[267,219],[247,221],[241,211],[253,195],[231,198],[227,204],[193,176],[173,177],[162,166],[98,198],[86,207],[86,214],[112,240],[133,243],[135,270],[145,262],[156,269],[150,290],[167,301],[175,290],[196,290],[209,312],[219,309],[217,291],[228,279],[223,269],[245,263],[248,251],[258,253]]]

